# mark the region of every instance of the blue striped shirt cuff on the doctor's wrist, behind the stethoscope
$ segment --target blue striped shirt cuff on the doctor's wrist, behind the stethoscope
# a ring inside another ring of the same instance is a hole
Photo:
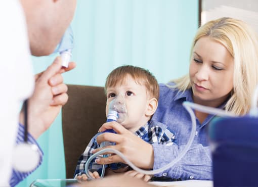
[[[24,126],[19,124],[18,134],[17,134],[17,138],[16,138],[16,144],[18,145],[18,144],[23,143],[23,142],[24,142]],[[28,133],[28,143],[29,144],[34,144],[38,147],[38,152],[39,152],[39,155],[40,155],[40,161],[39,161],[39,163],[36,167],[36,168],[38,168],[38,166],[42,162],[42,157],[43,157],[44,154],[43,154],[42,150],[40,149],[39,145],[37,144],[37,142],[35,141],[35,139],[29,133]],[[17,185],[20,181],[22,181],[24,178],[26,178],[34,170],[32,170],[30,172],[20,172],[20,171],[17,171],[15,169],[13,169],[13,173],[12,173],[11,179],[9,181],[10,186]]]

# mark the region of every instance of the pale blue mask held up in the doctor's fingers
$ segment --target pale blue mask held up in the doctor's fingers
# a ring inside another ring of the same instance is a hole
[[[60,56],[62,58],[62,66],[66,68],[68,67],[70,58],[72,56],[72,49],[73,49],[73,33],[72,33],[71,26],[69,26],[66,29],[56,50],[54,51],[54,53],[57,53],[57,52],[60,53]]]

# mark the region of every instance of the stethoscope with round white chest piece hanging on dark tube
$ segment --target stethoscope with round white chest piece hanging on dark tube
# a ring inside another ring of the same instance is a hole
[[[38,147],[28,143],[28,100],[24,101],[24,142],[15,146],[13,167],[20,172],[34,170],[40,160]]]

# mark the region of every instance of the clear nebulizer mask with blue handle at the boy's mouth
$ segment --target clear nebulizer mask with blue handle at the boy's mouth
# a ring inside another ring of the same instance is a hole
[[[107,121],[106,122],[111,122],[111,121],[116,121],[119,124],[122,124],[126,119],[127,119],[127,110],[126,110],[126,105],[125,105],[125,100],[124,96],[122,95],[117,95],[114,97],[114,99],[109,103],[108,105],[108,114],[107,114]],[[110,133],[116,133],[113,129],[107,129],[104,132],[110,132]],[[100,148],[106,147],[106,146],[112,146],[115,145],[114,142],[102,142],[100,144]],[[103,158],[109,157],[111,154],[103,155]],[[97,156],[100,156],[98,154]],[[87,162],[85,163],[85,173],[89,178],[92,178],[90,173],[89,173],[89,165],[91,161],[96,158],[96,154],[92,155]],[[101,171],[101,176],[103,177],[105,175],[105,168],[106,165],[102,165],[102,171]]]

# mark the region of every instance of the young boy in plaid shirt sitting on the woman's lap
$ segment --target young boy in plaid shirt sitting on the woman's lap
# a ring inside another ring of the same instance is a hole
[[[105,92],[107,96],[106,115],[110,102],[117,97],[122,97],[127,111],[125,120],[121,122],[122,126],[150,144],[170,146],[175,143],[175,134],[168,130],[166,125],[151,120],[158,106],[159,86],[155,77],[148,70],[130,65],[114,69],[106,79]],[[96,141],[98,135],[99,133],[91,139],[80,156],[74,173],[75,178],[87,179],[85,163],[93,155],[92,151],[99,148]],[[97,164],[95,159],[90,163],[89,169],[94,178],[100,177],[102,165]],[[110,173],[110,170],[113,171],[111,173],[121,173],[129,169],[128,165],[115,163],[115,167],[112,164],[111,169],[107,167],[105,173]],[[150,179],[150,176],[145,177],[145,180],[147,178]]]

